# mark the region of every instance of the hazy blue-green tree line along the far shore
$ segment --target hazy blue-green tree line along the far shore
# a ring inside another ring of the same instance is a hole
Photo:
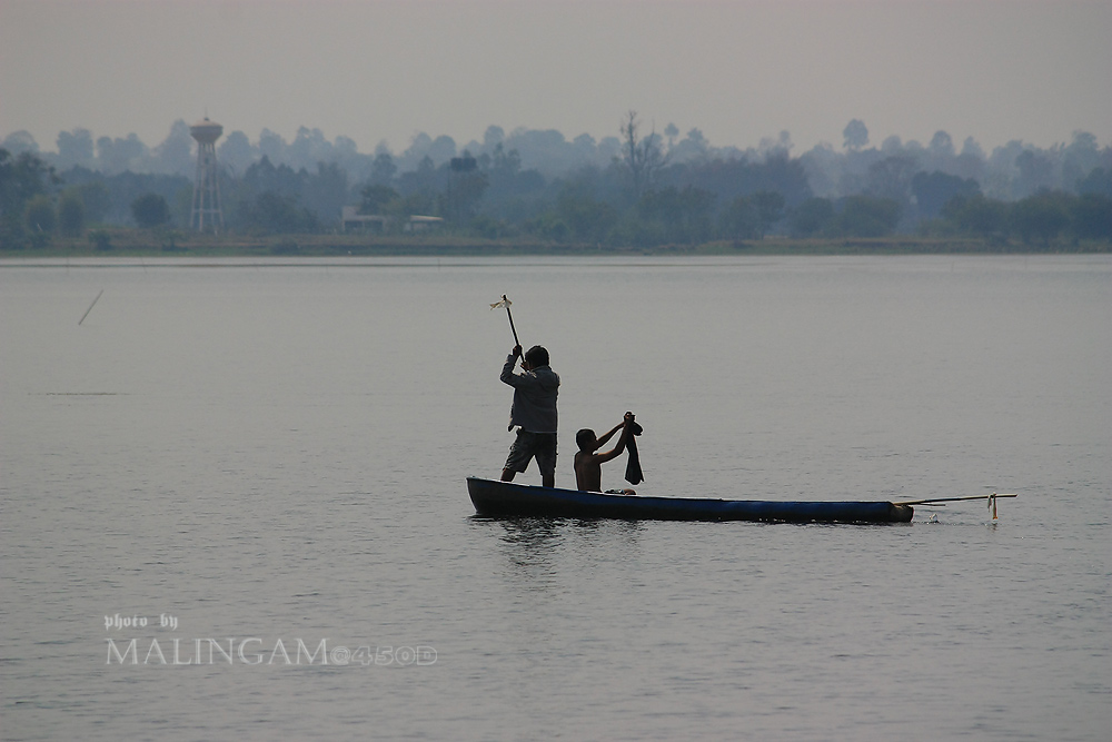
[[[708,240],[881,237],[896,231],[1019,240],[1112,239],[1112,147],[1078,132],[1039,149],[1013,141],[985,155],[946,132],[926,146],[890,137],[868,147],[860,120],[843,147],[793,157],[787,132],[739,150],[698,129],[647,129],[628,112],[617,136],[572,141],[558,131],[489,127],[461,150],[450,137],[416,136],[394,155],[360,154],[345,137],[302,128],[291,142],[264,130],[230,132],[218,148],[227,228],[252,234],[340,229],[345,206],[401,230],[413,215],[493,239],[557,244],[691,245]],[[41,152],[27,132],[0,149],[0,247],[41,246],[107,225],[186,227],[196,167],[189,128],[147,148],[138,137],[61,132]]]

